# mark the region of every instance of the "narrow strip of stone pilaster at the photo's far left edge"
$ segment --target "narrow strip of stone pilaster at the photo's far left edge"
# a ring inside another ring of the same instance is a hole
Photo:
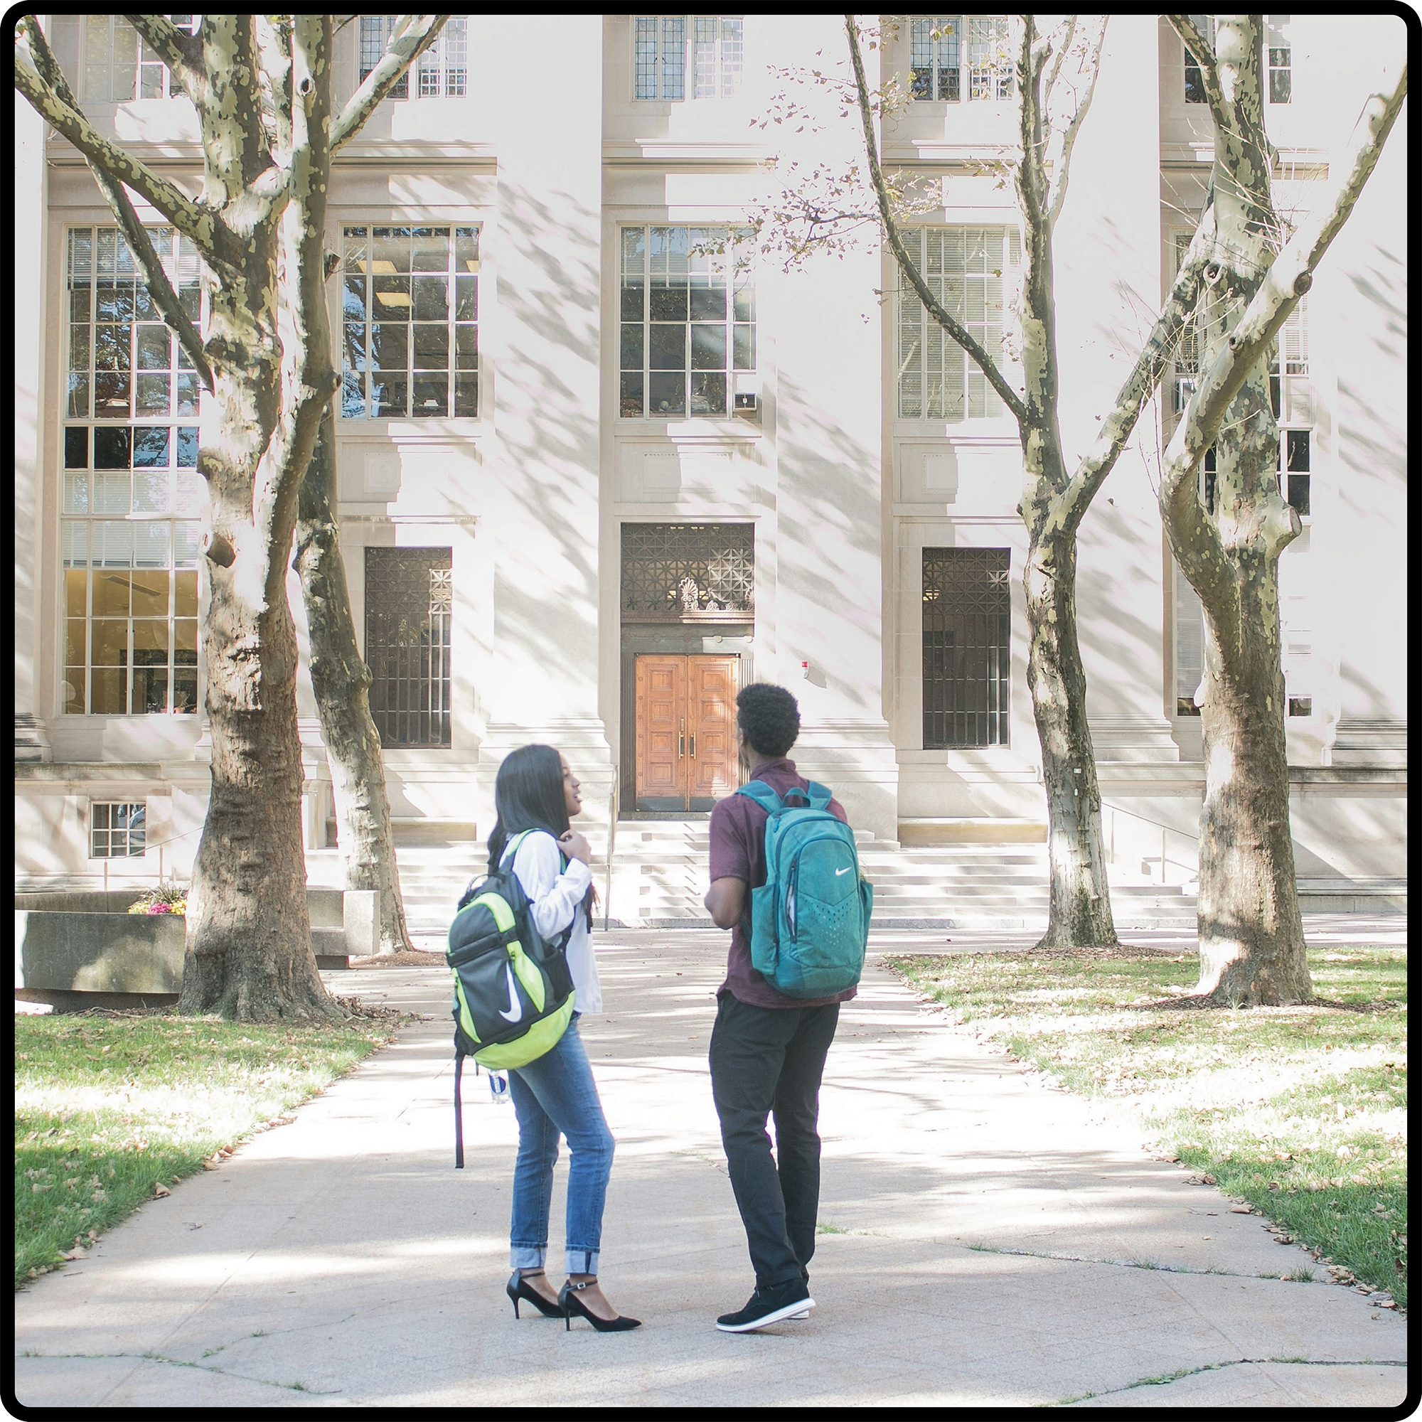
[[[14,98],[14,758],[48,761],[40,695],[43,538],[41,400],[46,353],[44,297],[48,289],[44,124],[18,94]],[[48,658],[46,658],[48,660]]]

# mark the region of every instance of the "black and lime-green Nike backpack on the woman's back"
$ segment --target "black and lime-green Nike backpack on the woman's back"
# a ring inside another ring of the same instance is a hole
[[[513,873],[523,830],[499,867],[465,890],[449,924],[445,961],[454,974],[455,1167],[464,1167],[459,1078],[464,1058],[492,1071],[526,1066],[557,1045],[573,1015],[567,940],[573,924],[545,943]],[[576,917],[573,923],[576,923]]]

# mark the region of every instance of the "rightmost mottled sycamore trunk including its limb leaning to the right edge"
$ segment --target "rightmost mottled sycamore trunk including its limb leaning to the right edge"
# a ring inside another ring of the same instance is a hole
[[[1214,122],[1214,166],[1194,246],[1203,246],[1202,380],[1166,451],[1160,513],[1204,609],[1204,808],[1200,818],[1200,981],[1213,1003],[1313,995],[1288,823],[1278,557],[1298,536],[1284,502],[1268,356],[1342,228],[1406,94],[1372,95],[1342,188],[1291,236],[1273,205],[1264,132],[1260,16],[1219,16],[1212,46],[1170,16],[1199,61]],[[1216,449],[1213,486],[1199,471]]]

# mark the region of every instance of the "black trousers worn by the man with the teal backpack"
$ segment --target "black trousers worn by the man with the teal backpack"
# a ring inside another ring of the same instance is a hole
[[[722,993],[711,1092],[758,1288],[809,1280],[819,1212],[819,1082],[839,1004],[752,1007]],[[775,1115],[775,1158],[765,1119]]]

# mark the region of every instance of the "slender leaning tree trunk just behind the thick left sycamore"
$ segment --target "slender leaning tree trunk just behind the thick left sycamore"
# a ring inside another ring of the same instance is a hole
[[[311,687],[331,764],[347,889],[374,889],[380,953],[408,950],[405,906],[391,836],[380,734],[370,714],[370,668],[356,644],[346,565],[336,526],[336,414],[327,407],[301,482],[296,557],[311,637]]]

